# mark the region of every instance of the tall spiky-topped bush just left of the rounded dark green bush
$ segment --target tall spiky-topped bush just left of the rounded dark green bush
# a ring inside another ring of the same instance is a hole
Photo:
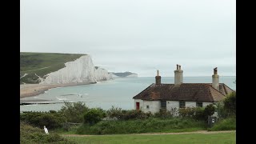
[[[59,111],[61,114],[64,115],[67,122],[76,122],[80,123],[83,122],[83,114],[85,114],[89,108],[86,104],[82,102],[64,102],[65,106],[62,106],[62,109]]]

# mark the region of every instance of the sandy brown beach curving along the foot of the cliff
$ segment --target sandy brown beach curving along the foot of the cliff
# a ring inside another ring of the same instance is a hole
[[[95,84],[97,82],[81,82],[81,83],[66,83],[66,84],[23,84],[20,85],[20,98],[34,97],[39,94],[45,93],[45,91],[66,86],[79,86]]]

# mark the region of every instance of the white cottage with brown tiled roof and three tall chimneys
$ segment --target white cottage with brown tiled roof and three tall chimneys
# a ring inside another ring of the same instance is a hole
[[[202,107],[222,100],[233,91],[224,83],[219,83],[217,67],[214,68],[212,83],[183,83],[183,70],[177,65],[177,70],[174,70],[174,84],[161,83],[158,71],[155,83],[134,96],[134,108],[154,114],[160,109]]]

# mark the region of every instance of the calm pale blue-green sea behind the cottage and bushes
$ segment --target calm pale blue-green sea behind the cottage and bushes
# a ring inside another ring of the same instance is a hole
[[[162,83],[174,83],[173,77],[162,77]],[[184,83],[211,83],[211,77],[185,77]],[[219,81],[231,89],[236,90],[236,77],[220,77]],[[107,82],[91,85],[59,87],[46,91],[35,97],[22,98],[21,101],[32,103],[49,102],[54,104],[34,104],[20,106],[20,111],[49,111],[60,110],[63,103],[56,102],[85,102],[86,106],[101,107],[104,110],[111,106],[121,107],[123,110],[134,109],[136,94],[155,82],[154,77],[144,78],[116,78]]]

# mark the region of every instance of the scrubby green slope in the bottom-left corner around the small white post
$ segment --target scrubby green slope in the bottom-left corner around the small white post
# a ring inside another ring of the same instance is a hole
[[[67,138],[63,138],[59,134],[52,133],[49,131],[49,134],[46,134],[45,131],[39,129],[38,127],[30,126],[24,122],[20,123],[20,143],[27,144],[39,144],[39,143],[62,143],[62,144],[71,144],[77,143]]]

